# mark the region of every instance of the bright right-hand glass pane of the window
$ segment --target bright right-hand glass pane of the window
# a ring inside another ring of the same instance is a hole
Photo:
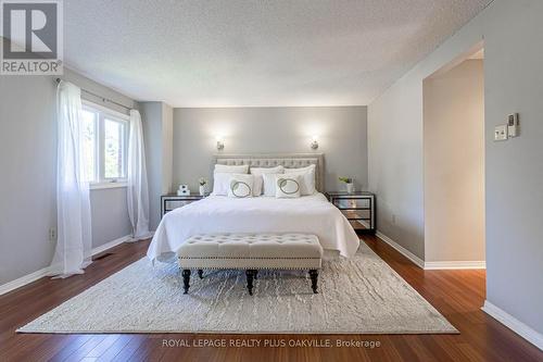
[[[123,178],[125,157],[125,129],[123,122],[104,120],[104,177]]]

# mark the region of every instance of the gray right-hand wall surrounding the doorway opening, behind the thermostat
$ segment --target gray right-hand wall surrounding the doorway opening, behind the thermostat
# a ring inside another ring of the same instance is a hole
[[[387,233],[394,233],[397,242],[420,252],[424,238],[412,239],[422,235],[418,216],[394,227],[382,223],[391,212],[406,210],[405,195],[413,195],[414,213],[422,212],[422,80],[484,39],[487,300],[539,333],[543,333],[541,14],[540,0],[494,1],[368,110],[370,187],[378,191],[380,210],[382,195],[394,207],[380,213],[378,227],[390,227]],[[494,142],[494,126],[504,124],[512,112],[520,113],[521,136]],[[393,147],[384,147],[387,134]],[[386,173],[394,167],[406,178]]]

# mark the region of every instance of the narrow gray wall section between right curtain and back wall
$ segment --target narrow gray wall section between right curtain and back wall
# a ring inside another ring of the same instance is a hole
[[[172,188],[173,110],[163,102],[139,103],[149,183],[149,228],[161,219],[161,195]]]

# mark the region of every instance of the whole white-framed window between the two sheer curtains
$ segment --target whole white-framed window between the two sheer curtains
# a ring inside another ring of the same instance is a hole
[[[126,180],[128,116],[84,103],[84,170],[91,184]]]

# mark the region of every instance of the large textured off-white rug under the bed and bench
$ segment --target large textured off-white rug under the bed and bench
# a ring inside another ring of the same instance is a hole
[[[325,261],[319,294],[306,273],[193,273],[182,294],[174,264],[144,258],[20,328],[24,333],[428,334],[457,330],[364,242]]]

